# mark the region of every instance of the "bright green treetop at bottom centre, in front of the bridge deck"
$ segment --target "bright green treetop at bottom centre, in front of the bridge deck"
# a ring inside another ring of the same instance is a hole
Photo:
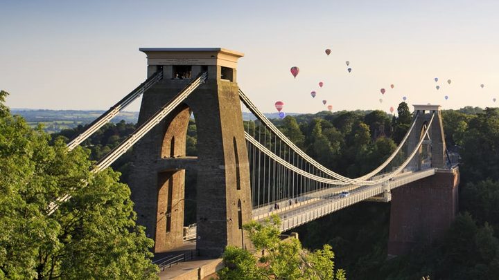
[[[265,251],[259,259],[247,250],[227,246],[223,260],[225,268],[218,272],[221,280],[229,279],[346,279],[342,269],[335,270],[331,246],[307,252],[298,239],[279,239],[279,217],[263,223],[252,221],[244,225],[256,252]]]

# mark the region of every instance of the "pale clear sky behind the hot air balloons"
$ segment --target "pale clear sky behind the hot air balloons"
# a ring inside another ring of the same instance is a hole
[[[145,80],[140,47],[221,47],[245,53],[238,84],[264,112],[277,100],[286,112],[316,113],[322,100],[389,111],[403,96],[499,106],[498,12],[499,1],[459,0],[1,0],[0,88],[12,108],[108,109]]]

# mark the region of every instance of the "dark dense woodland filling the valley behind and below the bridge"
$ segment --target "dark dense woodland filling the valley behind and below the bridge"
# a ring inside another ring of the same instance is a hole
[[[344,176],[365,174],[396,149],[412,121],[405,102],[398,112],[340,111],[287,116],[274,124],[298,147]],[[499,111],[465,107],[442,112],[449,148],[461,156],[459,214],[446,235],[407,256],[387,259],[389,203],[359,203],[299,227],[310,250],[329,244],[335,265],[348,279],[499,279]],[[69,140],[84,127],[53,134]],[[135,129],[124,121],[106,124],[82,146],[91,160],[102,158]],[[196,155],[195,120],[189,122],[188,156]],[[128,179],[130,151],[112,167]],[[195,176],[186,178],[185,223],[195,222]]]

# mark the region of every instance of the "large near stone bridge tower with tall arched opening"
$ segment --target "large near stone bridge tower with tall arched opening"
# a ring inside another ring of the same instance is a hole
[[[143,93],[139,124],[202,72],[208,80],[157,124],[133,149],[130,189],[137,221],[155,240],[155,252],[183,243],[186,131],[195,116],[198,135],[197,248],[220,256],[226,245],[247,248],[242,225],[252,220],[249,165],[236,83],[237,53],[223,48],[141,48],[148,76],[163,80]],[[175,164],[170,164],[176,162]]]

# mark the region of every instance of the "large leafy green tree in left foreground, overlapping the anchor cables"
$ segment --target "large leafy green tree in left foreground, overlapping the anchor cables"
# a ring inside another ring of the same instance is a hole
[[[119,173],[89,170],[89,151],[49,144],[0,93],[0,279],[155,279],[152,240],[135,224]],[[47,215],[56,198],[71,194]]]

